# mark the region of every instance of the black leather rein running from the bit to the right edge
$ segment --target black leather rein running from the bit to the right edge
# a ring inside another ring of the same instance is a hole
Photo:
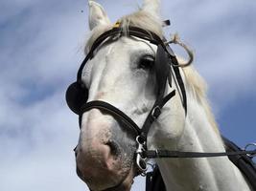
[[[142,152],[142,156],[148,159],[156,158],[215,158],[224,156],[238,156],[238,155],[255,155],[254,151],[237,151],[237,152],[223,152],[223,153],[199,153],[199,152],[182,152],[170,150],[147,150]]]

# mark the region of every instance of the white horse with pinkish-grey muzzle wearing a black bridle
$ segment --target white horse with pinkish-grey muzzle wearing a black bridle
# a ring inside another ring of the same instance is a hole
[[[159,0],[145,0],[140,11],[119,19],[122,27],[136,26],[163,37]],[[104,32],[113,28],[104,9],[89,1],[91,36],[85,53]],[[156,80],[152,70],[156,46],[137,37],[122,36],[102,44],[82,69],[88,101],[103,100],[132,118],[141,127],[155,100]],[[190,66],[180,69],[187,93],[187,115],[176,94],[164,106],[148,135],[149,149],[192,152],[224,152],[224,145],[206,98],[206,85]],[[166,94],[177,90],[175,81]],[[177,92],[177,91],[176,91]],[[130,190],[136,167],[136,142],[115,117],[92,109],[82,115],[77,154],[81,180],[93,191]],[[167,190],[251,190],[240,170],[227,158],[155,159]],[[109,189],[111,190],[111,189]]]

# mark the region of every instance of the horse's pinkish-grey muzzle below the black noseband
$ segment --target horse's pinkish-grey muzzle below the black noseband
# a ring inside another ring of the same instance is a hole
[[[113,117],[91,110],[81,125],[76,148],[77,172],[93,191],[130,190],[135,176],[133,154],[135,142]]]

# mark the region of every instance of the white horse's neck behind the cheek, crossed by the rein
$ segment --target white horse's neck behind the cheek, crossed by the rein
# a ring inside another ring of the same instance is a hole
[[[175,144],[178,151],[224,152],[221,136],[197,98],[189,94],[184,130]],[[156,163],[167,190],[250,190],[241,172],[226,157],[156,159]]]

